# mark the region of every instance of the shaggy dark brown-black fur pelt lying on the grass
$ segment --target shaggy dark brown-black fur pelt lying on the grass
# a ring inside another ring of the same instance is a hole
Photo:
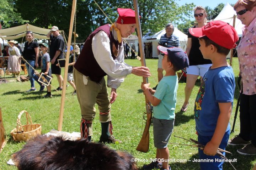
[[[138,170],[131,158],[102,143],[43,135],[12,155],[19,170]]]

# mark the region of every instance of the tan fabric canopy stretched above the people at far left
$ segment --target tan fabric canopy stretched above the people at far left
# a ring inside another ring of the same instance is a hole
[[[28,23],[22,26],[0,29],[0,36],[6,40],[14,40],[26,36],[27,31],[33,32],[34,38],[49,39],[46,35],[49,33],[50,29],[32,26]],[[62,32],[62,30],[60,30],[60,32]]]

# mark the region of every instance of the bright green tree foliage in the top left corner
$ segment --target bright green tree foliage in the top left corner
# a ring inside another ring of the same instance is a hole
[[[23,24],[27,21],[23,20],[20,13],[14,8],[14,0],[1,0],[0,3],[0,22],[2,28],[9,28],[13,24]]]

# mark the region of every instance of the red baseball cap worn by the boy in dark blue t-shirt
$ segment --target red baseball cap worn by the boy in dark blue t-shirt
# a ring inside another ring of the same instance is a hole
[[[223,21],[211,21],[202,28],[190,28],[189,32],[198,38],[207,36],[210,40],[226,49],[235,48],[235,43],[238,41],[238,34],[235,28]]]

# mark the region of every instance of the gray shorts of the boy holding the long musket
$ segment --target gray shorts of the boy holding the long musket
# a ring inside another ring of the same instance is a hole
[[[171,137],[174,120],[157,119],[153,117],[154,145],[156,148],[166,148]]]

